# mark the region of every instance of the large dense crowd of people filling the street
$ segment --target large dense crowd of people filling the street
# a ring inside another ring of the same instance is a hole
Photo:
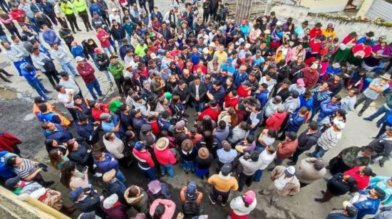
[[[234,21],[220,0],[171,4],[160,11],[154,0],[0,1],[9,32],[1,26],[4,55],[39,95],[33,113],[46,164],[58,170],[68,193],[51,189],[54,182],[41,174],[48,171],[45,162],[22,157],[22,142],[1,130],[6,188],[68,215],[78,210],[78,218],[208,218],[214,213],[200,205],[208,196],[212,205],[229,203],[235,219],[248,218],[261,196],[275,205],[324,178],[326,189],[315,202],[352,195],[326,218],[392,217],[392,178],[369,167],[386,165],[392,151],[386,36],[353,30],[339,39],[331,23],[279,21],[274,12]],[[77,17],[96,38],[76,39],[83,28]],[[105,79],[98,80],[101,73]],[[5,82],[11,76],[0,70]],[[117,87],[111,97],[103,84]],[[380,96],[386,103],[363,118],[382,115],[377,136],[323,159],[341,147],[346,114],[363,103],[361,117]],[[56,111],[48,102],[53,97],[69,114]],[[134,164],[138,169],[130,171],[148,183],[127,183],[123,171]],[[211,191],[190,181],[172,193],[167,179],[178,174],[206,180]],[[270,181],[262,190],[247,188],[264,174]],[[92,177],[103,181],[102,192]],[[238,196],[230,198],[233,191]],[[73,205],[63,205],[63,198]]]

